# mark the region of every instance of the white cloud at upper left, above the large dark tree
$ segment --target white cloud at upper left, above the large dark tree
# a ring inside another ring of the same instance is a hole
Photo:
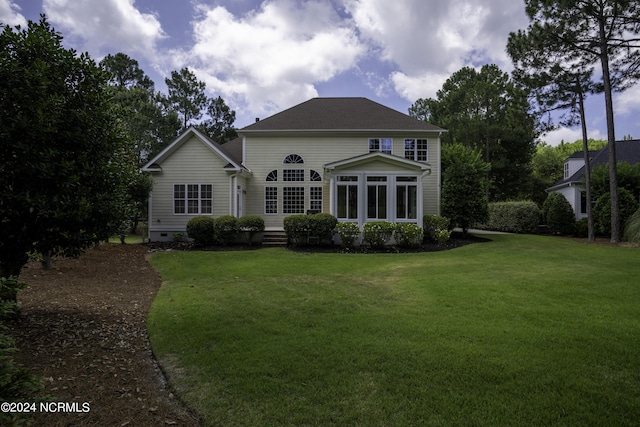
[[[56,29],[80,39],[94,56],[125,52],[154,60],[164,37],[158,18],[141,13],[134,0],[44,0],[43,9]]]

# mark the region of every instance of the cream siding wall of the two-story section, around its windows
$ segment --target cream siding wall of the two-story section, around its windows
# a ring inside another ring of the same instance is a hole
[[[440,141],[438,134],[431,133],[427,138],[428,161],[432,167],[431,175],[423,178],[423,211],[424,213],[440,213]],[[269,229],[282,229],[282,222],[289,214],[282,212],[282,188],[288,186],[304,186],[305,209],[309,209],[309,188],[312,186],[323,187],[323,212],[330,213],[330,180],[325,176],[324,165],[345,159],[350,159],[369,152],[369,138],[392,138],[392,154],[404,157],[404,139],[421,138],[425,134],[421,132],[368,132],[359,134],[310,136],[298,135],[254,135],[245,136],[245,166],[253,175],[247,180],[247,197],[245,214],[259,215],[265,219],[265,226]],[[304,159],[303,165],[283,165],[283,160],[289,154],[298,154]],[[283,182],[283,169],[304,169],[304,182]],[[367,170],[388,171],[388,164],[368,164]],[[266,182],[266,177],[272,170],[278,170],[277,182]],[[322,182],[310,182],[309,171],[315,170],[323,178]],[[406,169],[398,169],[406,170]],[[265,214],[265,187],[278,188],[278,213]]]

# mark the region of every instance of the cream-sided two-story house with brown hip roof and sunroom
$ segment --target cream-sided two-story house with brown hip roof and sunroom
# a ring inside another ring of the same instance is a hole
[[[171,240],[194,216],[292,214],[411,222],[440,214],[443,129],[365,98],[314,98],[217,144],[190,128],[149,161],[149,238]]]

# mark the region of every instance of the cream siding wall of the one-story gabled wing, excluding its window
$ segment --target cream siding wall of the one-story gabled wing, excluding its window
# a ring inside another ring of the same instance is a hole
[[[184,233],[189,219],[200,214],[174,214],[174,184],[212,184],[213,217],[232,213],[229,202],[231,174],[223,168],[227,163],[198,138],[185,141],[160,164],[162,172],[154,172],[153,192],[149,201],[149,238],[151,241],[172,240],[173,233]]]

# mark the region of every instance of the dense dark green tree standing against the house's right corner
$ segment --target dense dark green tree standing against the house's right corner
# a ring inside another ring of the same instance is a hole
[[[458,143],[442,147],[442,215],[463,234],[487,220],[485,176],[490,167],[478,149]]]

